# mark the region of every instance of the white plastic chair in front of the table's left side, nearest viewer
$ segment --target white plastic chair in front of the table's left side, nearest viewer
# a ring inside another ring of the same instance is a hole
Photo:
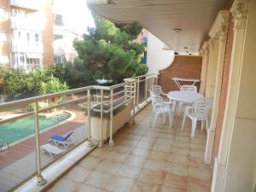
[[[151,101],[152,101],[152,107],[153,107],[153,127],[156,123],[157,117],[160,114],[164,115],[164,123],[166,123],[166,114],[169,115],[169,123],[170,123],[170,129],[172,128],[172,123],[174,120],[174,108],[176,102],[164,102],[163,98],[161,96],[156,96],[153,91],[150,91]],[[172,104],[172,108],[171,108]]]

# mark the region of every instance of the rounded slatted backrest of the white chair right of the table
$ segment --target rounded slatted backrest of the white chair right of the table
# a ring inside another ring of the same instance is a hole
[[[207,99],[197,99],[192,105],[193,111],[197,119],[207,119],[207,114],[210,110]]]

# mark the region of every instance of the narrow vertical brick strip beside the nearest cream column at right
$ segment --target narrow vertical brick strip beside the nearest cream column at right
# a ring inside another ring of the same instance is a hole
[[[227,2],[226,8],[230,9],[233,0]],[[222,77],[222,84],[221,84],[221,92],[220,92],[220,99],[219,99],[219,106],[218,106],[218,119],[216,125],[216,132],[214,137],[213,143],[213,150],[212,150],[212,166],[214,164],[214,159],[218,156],[218,148],[219,142],[221,137],[222,125],[224,121],[224,111],[225,111],[225,104],[226,104],[226,96],[229,84],[229,74],[230,74],[230,59],[231,59],[231,52],[232,52],[232,44],[233,44],[233,22],[232,22],[232,15],[230,15],[229,20],[229,28],[228,28],[228,35],[227,35],[227,43],[224,55],[224,71]]]

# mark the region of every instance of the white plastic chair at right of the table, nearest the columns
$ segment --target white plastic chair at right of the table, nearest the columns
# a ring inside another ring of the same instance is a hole
[[[196,129],[196,123],[197,120],[201,120],[201,123],[203,124],[201,126],[201,129],[204,129],[204,123],[207,123],[208,127],[208,112],[211,109],[210,103],[207,101],[207,99],[198,99],[194,102],[192,107],[186,106],[185,112],[183,115],[183,124],[182,124],[182,130],[185,124],[185,120],[187,117],[192,120],[192,127],[191,127],[191,137],[195,136],[195,129]]]

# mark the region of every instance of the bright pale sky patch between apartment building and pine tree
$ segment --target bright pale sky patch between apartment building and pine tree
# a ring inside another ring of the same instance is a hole
[[[65,3],[64,3],[65,2]],[[88,9],[86,0],[60,1],[61,11],[65,12],[65,23],[80,34],[87,32],[87,27],[95,26],[93,17]]]

